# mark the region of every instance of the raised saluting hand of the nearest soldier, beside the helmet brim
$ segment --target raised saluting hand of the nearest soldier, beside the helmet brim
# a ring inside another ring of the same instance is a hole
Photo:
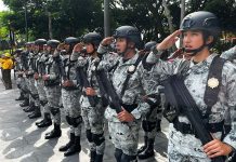
[[[179,38],[176,38],[176,37],[180,36],[181,32],[182,32],[181,30],[175,30],[173,33],[168,36],[162,42],[157,44],[156,49],[157,50],[167,50],[167,49],[171,48],[178,41]]]

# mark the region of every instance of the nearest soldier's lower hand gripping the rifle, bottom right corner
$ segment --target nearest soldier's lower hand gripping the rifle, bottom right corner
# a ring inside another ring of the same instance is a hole
[[[219,156],[228,156],[232,152],[232,147],[219,139],[213,139],[204,146],[204,151],[209,158]]]

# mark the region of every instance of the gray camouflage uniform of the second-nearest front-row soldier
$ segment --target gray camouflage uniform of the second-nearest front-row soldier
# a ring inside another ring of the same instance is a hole
[[[99,53],[103,53],[103,62],[100,64],[100,68],[109,69],[110,67],[117,65],[114,69],[110,80],[116,90],[118,96],[121,95],[121,90],[123,87],[123,82],[128,75],[128,69],[133,65],[139,54],[135,54],[132,58],[123,63],[123,58],[119,55],[112,55],[106,46],[100,45]],[[119,62],[117,64],[117,62]],[[121,98],[122,104],[129,106],[136,106],[131,110],[134,121],[128,123],[121,123],[117,118],[117,112],[110,106],[105,110],[105,118],[108,120],[108,131],[112,136],[113,144],[122,153],[127,156],[137,154],[137,144],[139,144],[139,130],[141,125],[142,116],[144,117],[149,111],[149,105],[142,102],[141,96],[143,96],[144,90],[142,85],[142,70],[140,67],[131,76],[124,94]]]

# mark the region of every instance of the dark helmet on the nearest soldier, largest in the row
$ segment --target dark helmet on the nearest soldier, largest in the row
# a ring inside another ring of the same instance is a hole
[[[186,15],[181,23],[180,29],[208,31],[214,39],[220,35],[218,17],[207,11],[198,11]]]

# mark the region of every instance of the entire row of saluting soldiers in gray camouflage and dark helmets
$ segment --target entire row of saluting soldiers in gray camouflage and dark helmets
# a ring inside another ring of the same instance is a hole
[[[161,86],[163,79],[178,71],[186,72],[186,85],[201,110],[206,111],[207,106],[201,93],[207,84],[207,63],[211,63],[215,56],[209,54],[209,49],[218,37],[214,30],[208,29],[218,27],[212,19],[215,21],[215,16],[208,12],[187,15],[182,22],[181,31],[175,31],[159,44],[148,42],[139,51],[142,44],[141,33],[132,26],[118,27],[113,37],[104,39],[97,32],[89,32],[82,40],[69,37],[63,43],[44,39],[28,42],[26,51],[16,51],[17,85],[21,92],[18,99],[24,99],[21,106],[29,105],[23,110],[31,112],[28,114],[30,119],[43,114],[42,121],[36,123],[38,127],[53,123],[54,130],[45,134],[45,139],[61,136],[61,110],[65,111],[66,121],[70,126],[69,141],[60,148],[60,151],[65,151],[65,157],[80,152],[83,122],[91,151],[90,161],[102,162],[105,150],[105,119],[108,122],[117,162],[135,162],[137,157],[153,157],[155,136],[157,131],[160,131],[162,108],[171,107],[166,104]],[[207,27],[205,23],[209,23]],[[173,45],[175,36],[181,33],[185,38],[185,53],[194,59],[185,57],[175,58],[173,63],[167,62],[166,50]],[[199,37],[201,39],[198,41],[204,44],[186,40],[188,37]],[[191,43],[186,43],[187,41]],[[201,64],[197,54],[200,58],[210,56]],[[220,93],[220,104],[214,105],[208,116],[210,126],[219,127],[218,122],[228,119],[226,114],[231,116],[235,107],[235,68],[230,63],[225,66],[231,77],[226,73],[227,80],[223,84],[231,84],[224,85],[227,87],[222,89],[223,92]],[[212,84],[213,89],[217,83]],[[228,94],[231,99],[226,100],[224,94]],[[222,107],[219,108],[219,105]],[[223,147],[222,152],[217,156],[227,156],[235,148],[235,130],[231,127],[232,122],[233,120],[230,120],[227,133],[224,132],[224,143],[212,141]],[[137,150],[141,126],[145,132],[144,146]],[[210,158],[215,156],[214,150],[220,152],[219,148],[210,144],[201,148],[192,125],[182,112],[174,118],[170,130],[170,161],[210,161]],[[222,127],[219,127],[212,133],[218,133],[219,130],[223,132]]]

